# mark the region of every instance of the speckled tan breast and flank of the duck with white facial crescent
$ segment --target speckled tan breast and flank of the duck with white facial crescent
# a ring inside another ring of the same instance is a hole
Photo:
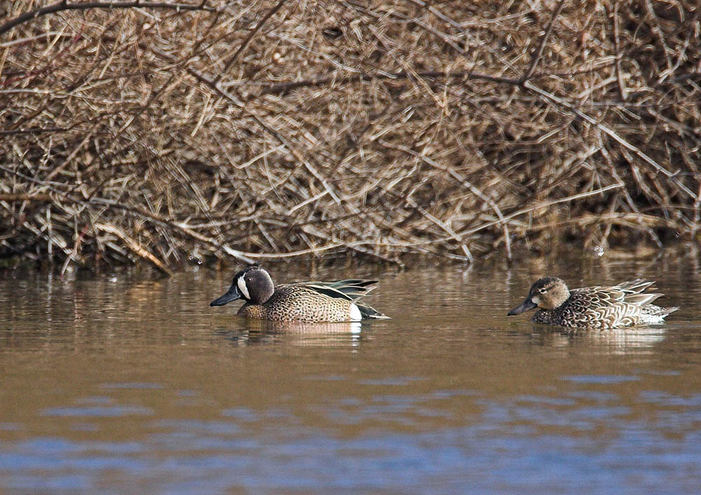
[[[246,303],[238,314],[271,321],[339,322],[350,321],[351,304],[348,300],[329,298],[304,284],[283,284],[275,287],[264,304]]]

